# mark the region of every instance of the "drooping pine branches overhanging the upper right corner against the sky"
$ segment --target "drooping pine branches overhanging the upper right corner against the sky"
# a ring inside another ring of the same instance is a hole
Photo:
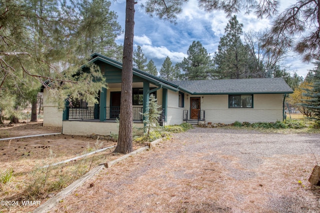
[[[303,60],[310,62],[320,56],[320,6],[319,0],[297,0],[276,16],[265,39],[265,45],[273,47],[280,42],[299,53]]]

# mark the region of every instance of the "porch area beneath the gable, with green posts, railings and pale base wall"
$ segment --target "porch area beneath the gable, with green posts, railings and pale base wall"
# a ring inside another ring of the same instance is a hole
[[[148,109],[149,95],[153,94],[161,106],[166,106],[166,89],[149,82],[134,82],[132,84],[132,120],[136,129],[143,129],[143,113]],[[164,96],[164,97],[163,97]],[[98,103],[94,106],[66,103],[63,111],[62,133],[73,135],[110,135],[118,133],[120,115],[121,83],[108,83],[99,93]],[[164,103],[163,103],[164,101]],[[159,125],[165,123],[165,108],[159,117]]]

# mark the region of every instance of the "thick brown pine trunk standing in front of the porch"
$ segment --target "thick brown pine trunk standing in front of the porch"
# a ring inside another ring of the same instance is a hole
[[[114,152],[123,154],[132,152],[132,53],[134,4],[134,0],[126,0],[119,137],[114,150]]]

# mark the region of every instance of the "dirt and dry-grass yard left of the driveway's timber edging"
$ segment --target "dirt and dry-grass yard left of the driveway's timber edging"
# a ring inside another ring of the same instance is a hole
[[[40,135],[49,133],[61,133],[61,128],[43,127],[42,122],[19,123],[14,125],[4,124],[0,126],[0,139],[13,138],[19,136]],[[98,140],[97,140],[97,137]],[[108,137],[90,135],[90,136],[73,136],[54,134],[48,136],[37,136],[10,140],[0,140],[0,177],[12,170],[12,179],[9,184],[0,183],[0,201],[19,201],[19,206],[0,206],[0,213],[24,213],[30,212],[36,206],[21,206],[21,201],[26,200],[28,196],[28,187],[32,187],[32,182],[39,184],[42,177],[48,177],[45,170],[41,167],[68,160],[95,150],[111,147],[116,142]],[[133,149],[138,149],[142,144],[134,144]],[[58,189],[60,182],[65,184],[64,179],[70,174],[81,176],[80,172],[88,171],[99,163],[106,163],[120,157],[120,154],[113,154],[112,149],[100,152],[80,160],[74,160],[68,164],[61,164],[56,168],[50,168],[50,181],[57,183],[52,188]],[[63,178],[62,178],[63,175]],[[38,181],[39,179],[39,181]],[[59,180],[62,180],[59,182]],[[49,181],[49,180],[48,180]],[[70,182],[68,182],[70,183]],[[48,184],[46,184],[48,185]],[[40,186],[41,187],[41,186]],[[34,188],[33,188],[34,190]],[[36,189],[35,189],[36,190]],[[38,196],[37,201],[44,203],[49,197],[56,194],[52,192],[42,193]]]

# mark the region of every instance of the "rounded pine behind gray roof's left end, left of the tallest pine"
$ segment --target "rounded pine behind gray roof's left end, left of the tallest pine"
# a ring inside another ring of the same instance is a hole
[[[186,58],[179,63],[188,80],[209,79],[212,75],[212,59],[200,41],[193,41],[189,46]]]

